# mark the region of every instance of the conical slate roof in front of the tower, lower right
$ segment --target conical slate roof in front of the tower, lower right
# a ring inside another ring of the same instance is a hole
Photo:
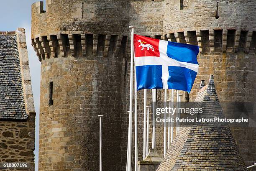
[[[197,94],[203,114],[223,117],[213,76]],[[157,171],[248,171],[228,126],[181,127]]]

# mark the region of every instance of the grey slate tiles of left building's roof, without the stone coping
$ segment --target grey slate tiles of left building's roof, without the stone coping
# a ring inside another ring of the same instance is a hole
[[[23,120],[26,113],[15,34],[0,34],[0,120]]]

